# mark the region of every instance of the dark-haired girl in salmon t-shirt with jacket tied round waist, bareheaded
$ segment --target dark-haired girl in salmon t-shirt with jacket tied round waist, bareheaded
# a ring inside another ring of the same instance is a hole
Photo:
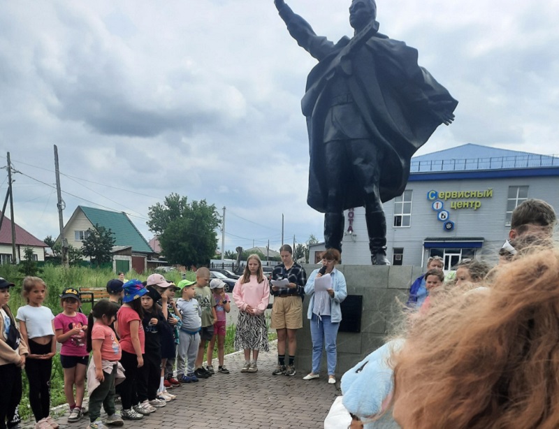
[[[88,428],[104,428],[100,419],[101,405],[107,413],[106,425],[122,426],[124,421],[115,408],[115,376],[121,358],[120,344],[117,335],[110,328],[115,321],[119,305],[110,300],[100,300],[89,314],[87,334],[87,350],[93,351],[89,363],[89,421]],[[95,323],[94,323],[95,319]],[[92,372],[99,381],[99,386],[91,386]]]

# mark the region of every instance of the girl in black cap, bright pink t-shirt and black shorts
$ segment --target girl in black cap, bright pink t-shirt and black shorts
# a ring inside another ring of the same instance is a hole
[[[66,288],[60,295],[63,311],[55,317],[55,335],[62,344],[60,363],[64,370],[64,395],[70,406],[68,422],[82,418],[85,395],[85,372],[89,361],[87,351],[87,317],[78,312],[80,295],[74,288]],[[75,398],[74,398],[75,386]]]

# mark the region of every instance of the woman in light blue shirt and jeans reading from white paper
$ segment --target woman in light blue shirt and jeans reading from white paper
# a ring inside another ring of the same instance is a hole
[[[340,262],[340,252],[328,249],[322,254],[322,268],[314,270],[305,285],[310,296],[307,317],[310,319],[312,338],[312,371],[303,380],[319,378],[323,344],[328,361],[328,384],[335,384],[336,337],[342,321],[340,303],[347,296],[347,286],[342,272],[335,266]]]

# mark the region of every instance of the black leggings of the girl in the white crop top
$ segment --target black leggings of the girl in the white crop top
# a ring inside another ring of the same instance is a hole
[[[38,344],[29,339],[30,354],[49,354],[51,343]],[[50,415],[50,373],[52,358],[25,360],[25,372],[29,380],[29,405],[35,420],[43,420]]]

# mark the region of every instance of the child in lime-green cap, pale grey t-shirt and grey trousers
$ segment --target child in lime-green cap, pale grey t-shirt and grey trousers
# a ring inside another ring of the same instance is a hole
[[[177,300],[177,307],[182,315],[182,326],[180,327],[180,342],[177,358],[177,378],[183,383],[198,381],[194,374],[194,365],[198,355],[200,344],[200,330],[202,328],[202,309],[198,300],[194,298],[196,282],[181,280],[177,288],[181,289],[181,296]],[[184,363],[187,363],[187,373],[184,374]]]

